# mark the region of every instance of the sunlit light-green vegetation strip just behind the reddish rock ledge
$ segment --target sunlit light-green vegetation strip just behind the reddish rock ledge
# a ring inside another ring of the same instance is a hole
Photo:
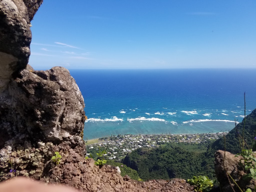
[[[121,170],[121,176],[125,176],[125,175],[128,175],[131,179],[134,179],[134,180],[139,180],[140,177],[137,173],[137,171],[135,171],[134,169],[130,168],[130,167],[127,167],[126,165],[122,164],[122,163],[117,163],[113,160],[107,160],[107,163],[108,165],[112,165],[112,166],[115,166],[115,167],[119,167],[120,170]]]

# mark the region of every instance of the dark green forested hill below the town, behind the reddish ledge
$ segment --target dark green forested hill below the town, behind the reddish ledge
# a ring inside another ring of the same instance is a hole
[[[186,147],[190,149],[186,150]],[[193,147],[194,150],[191,150],[189,144],[174,143],[152,150],[143,147],[128,153],[123,163],[137,170],[140,178],[144,180],[188,179],[193,175],[207,175],[213,178],[213,159],[205,159],[206,146],[195,144]]]

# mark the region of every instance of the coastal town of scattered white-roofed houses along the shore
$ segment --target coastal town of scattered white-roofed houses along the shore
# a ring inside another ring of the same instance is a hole
[[[228,132],[202,133],[202,134],[148,134],[148,135],[118,135],[107,136],[86,141],[87,154],[97,153],[108,148],[105,159],[122,159],[129,152],[137,148],[155,148],[167,143],[204,144],[209,140],[217,140]]]

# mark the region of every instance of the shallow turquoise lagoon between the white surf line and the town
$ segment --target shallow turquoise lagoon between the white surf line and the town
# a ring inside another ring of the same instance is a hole
[[[194,120],[195,121],[195,120]],[[107,137],[118,134],[132,134],[132,135],[161,135],[163,134],[202,134],[202,133],[217,133],[227,132],[234,128],[234,122],[225,121],[206,121],[206,122],[192,122],[184,125],[166,124],[165,122],[145,121],[134,123],[116,123],[95,122],[85,125],[84,140],[93,140],[100,137]],[[87,137],[87,138],[86,138]]]

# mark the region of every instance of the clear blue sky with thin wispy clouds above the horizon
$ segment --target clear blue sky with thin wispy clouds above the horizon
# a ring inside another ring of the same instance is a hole
[[[44,0],[36,70],[256,68],[256,1]]]

